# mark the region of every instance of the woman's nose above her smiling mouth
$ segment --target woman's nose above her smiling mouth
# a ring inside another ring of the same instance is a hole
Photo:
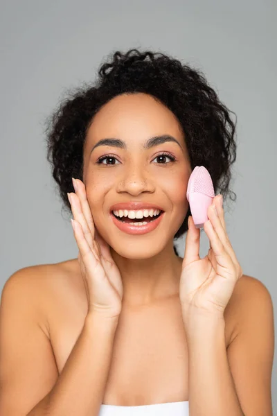
[[[154,183],[150,175],[134,166],[118,180],[118,192],[127,192],[137,196],[142,192],[153,192]]]

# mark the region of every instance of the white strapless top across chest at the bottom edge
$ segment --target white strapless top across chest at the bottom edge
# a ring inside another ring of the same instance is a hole
[[[188,401],[147,404],[143,406],[114,406],[101,404],[98,416],[189,416]]]

